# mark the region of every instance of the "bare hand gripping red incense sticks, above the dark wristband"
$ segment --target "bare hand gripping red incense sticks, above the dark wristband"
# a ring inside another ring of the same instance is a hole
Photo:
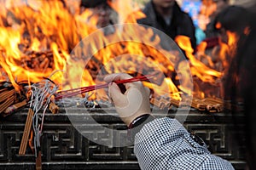
[[[127,126],[138,116],[150,114],[150,103],[148,88],[143,86],[142,82],[125,83],[125,93],[122,94],[119,86],[113,81],[132,78],[125,73],[116,73],[104,78],[108,85],[108,95],[113,100],[116,111]]]

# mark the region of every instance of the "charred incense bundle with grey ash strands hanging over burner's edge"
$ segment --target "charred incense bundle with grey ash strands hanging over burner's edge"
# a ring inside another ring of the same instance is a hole
[[[44,115],[46,110],[50,108],[52,112],[57,112],[58,108],[53,105],[51,97],[56,93],[58,87],[49,78],[46,78],[42,82],[33,83],[30,86],[25,87],[27,94],[30,95],[30,108],[26,117],[26,125],[23,131],[22,140],[20,143],[19,155],[26,154],[26,146],[29,143],[30,147],[33,147],[36,157],[36,169],[42,168],[41,161],[41,144],[40,139],[44,127]],[[43,114],[38,114],[39,111],[44,110]],[[33,130],[33,135],[31,134]],[[32,138],[29,139],[31,134]],[[32,142],[33,140],[33,142]]]

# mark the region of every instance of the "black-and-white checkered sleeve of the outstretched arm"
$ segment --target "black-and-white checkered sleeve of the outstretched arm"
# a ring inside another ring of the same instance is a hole
[[[142,169],[234,169],[229,161],[212,155],[206,144],[191,138],[171,118],[155,119],[135,136],[134,153]]]

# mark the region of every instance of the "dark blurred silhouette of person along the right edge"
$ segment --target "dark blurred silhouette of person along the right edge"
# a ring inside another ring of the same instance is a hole
[[[256,22],[256,20],[254,21]],[[246,169],[256,169],[256,26],[251,29],[244,44],[238,47],[236,58],[230,66],[229,80],[226,87],[226,98],[232,101],[232,115],[234,116],[234,133],[238,144],[246,145]],[[230,84],[232,85],[230,87]],[[242,108],[238,108],[239,103]],[[237,114],[243,114],[244,127],[236,127]],[[244,133],[238,133],[239,131]],[[243,140],[245,139],[245,141]]]

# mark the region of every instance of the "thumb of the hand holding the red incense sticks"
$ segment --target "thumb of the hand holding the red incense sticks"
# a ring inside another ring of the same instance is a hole
[[[108,94],[109,97],[113,100],[114,105],[123,106],[127,105],[127,99],[124,94],[122,94],[120,88],[115,82],[109,84]]]

